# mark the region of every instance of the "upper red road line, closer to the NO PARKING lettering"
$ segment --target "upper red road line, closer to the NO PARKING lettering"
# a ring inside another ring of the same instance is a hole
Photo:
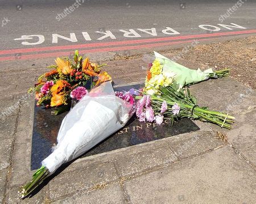
[[[155,39],[96,42],[96,43],[89,43],[89,44],[78,44],[78,45],[67,45],[67,46],[65,46],[65,45],[46,46],[46,47],[42,47],[42,48],[10,49],[10,50],[0,50],[0,54],[42,52],[42,51],[61,50],[61,49],[67,50],[67,49],[91,48],[91,47],[97,47],[97,46],[139,44],[139,43],[144,43],[144,42],[182,40],[182,39],[192,39],[192,38],[197,38],[197,37],[214,37],[214,36],[240,35],[240,34],[249,34],[249,33],[256,33],[256,29],[247,30],[247,31],[219,32],[219,33],[208,33],[208,34],[197,34],[197,35],[186,35],[186,36],[175,36],[175,37],[159,37],[159,38],[155,38]]]

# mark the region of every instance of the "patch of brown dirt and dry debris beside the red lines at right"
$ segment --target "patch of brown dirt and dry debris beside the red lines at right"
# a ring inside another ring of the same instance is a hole
[[[255,90],[256,36],[209,45],[197,45],[184,56],[215,70],[230,68],[231,77]]]

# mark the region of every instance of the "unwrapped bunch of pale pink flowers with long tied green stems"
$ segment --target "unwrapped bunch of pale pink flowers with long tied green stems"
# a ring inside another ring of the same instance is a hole
[[[159,86],[157,94],[137,96],[136,99],[139,99],[136,113],[140,121],[146,118],[149,122],[155,121],[156,124],[161,124],[163,118],[166,118],[170,119],[173,125],[175,120],[186,117],[231,129],[235,119],[228,113],[199,107],[196,97],[189,89],[180,88],[175,80],[168,86]]]

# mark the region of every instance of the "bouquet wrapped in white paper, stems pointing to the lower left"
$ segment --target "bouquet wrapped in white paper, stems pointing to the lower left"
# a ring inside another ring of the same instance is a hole
[[[32,180],[20,188],[20,198],[28,196],[62,164],[123,128],[134,113],[133,103],[129,92],[114,93],[111,82],[102,83],[82,97],[63,119],[55,150],[43,160]]]

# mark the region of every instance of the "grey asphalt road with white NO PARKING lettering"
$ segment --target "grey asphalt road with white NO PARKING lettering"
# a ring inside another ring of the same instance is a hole
[[[0,54],[1,57],[7,57],[3,59],[10,59],[8,57],[14,53],[14,49],[20,49],[16,50],[20,54],[26,54],[27,51],[42,54],[49,52],[51,46],[63,45],[57,50],[64,50],[65,46],[74,49],[76,45],[95,43],[103,43],[93,46],[97,46],[99,52],[107,52],[108,49],[100,49],[107,45],[117,46],[119,44],[116,42],[119,41],[122,41],[123,46],[155,43],[155,40],[142,42],[143,39],[197,34],[203,35],[200,37],[220,37],[222,35],[214,36],[215,33],[234,32],[229,34],[233,36],[251,31],[250,35],[255,35],[255,10],[256,1],[250,0],[240,0],[239,3],[237,0],[1,0]],[[227,28],[219,24],[233,27]],[[162,39],[161,42],[174,40],[180,39]]]

